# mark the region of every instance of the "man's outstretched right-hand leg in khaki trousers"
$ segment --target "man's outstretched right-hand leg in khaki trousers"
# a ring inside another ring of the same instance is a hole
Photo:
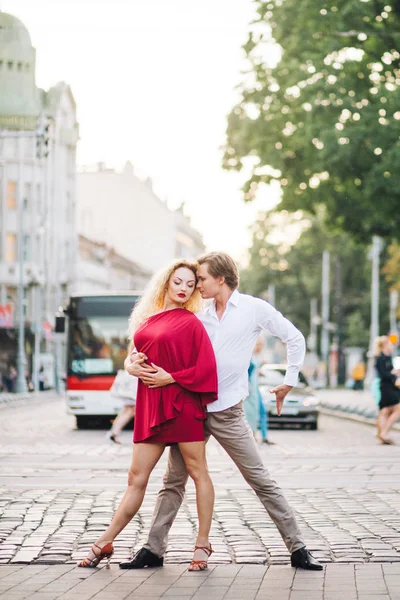
[[[256,492],[289,552],[304,548],[294,512],[263,465],[257,443],[244,419],[243,403],[221,412],[208,413],[207,427]]]

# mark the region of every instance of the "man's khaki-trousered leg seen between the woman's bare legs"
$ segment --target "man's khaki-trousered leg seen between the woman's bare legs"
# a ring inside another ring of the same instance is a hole
[[[158,492],[149,535],[144,544],[144,548],[157,556],[162,556],[167,548],[168,533],[181,507],[187,480],[185,461],[179,447],[173,445],[169,451],[164,485]]]

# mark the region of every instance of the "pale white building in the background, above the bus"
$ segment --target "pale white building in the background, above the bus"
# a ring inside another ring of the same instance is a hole
[[[194,259],[204,252],[183,208],[171,210],[151,179],[139,179],[129,162],[120,172],[100,163],[78,173],[77,206],[81,234],[151,272],[173,258]]]

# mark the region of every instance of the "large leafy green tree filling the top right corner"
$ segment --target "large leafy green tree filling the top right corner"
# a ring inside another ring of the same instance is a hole
[[[256,0],[249,72],[224,167],[278,180],[278,209],[315,212],[362,242],[400,239],[400,0]],[[281,49],[275,66],[268,42]]]

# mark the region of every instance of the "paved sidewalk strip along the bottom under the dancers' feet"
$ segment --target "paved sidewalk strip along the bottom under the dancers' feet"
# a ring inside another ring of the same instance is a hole
[[[0,568],[7,600],[398,600],[400,564],[335,565],[323,571],[289,566],[221,565],[189,573],[187,565],[123,571],[72,565]]]

